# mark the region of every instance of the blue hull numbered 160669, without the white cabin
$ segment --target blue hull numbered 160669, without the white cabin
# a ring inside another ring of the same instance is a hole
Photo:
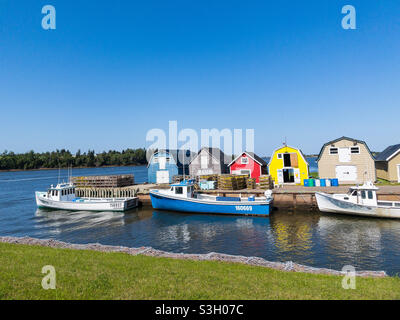
[[[150,191],[154,209],[232,215],[268,216],[272,209],[272,199],[265,201],[213,201],[196,198],[179,198]]]

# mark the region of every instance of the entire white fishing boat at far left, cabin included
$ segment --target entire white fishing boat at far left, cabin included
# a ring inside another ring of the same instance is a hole
[[[47,192],[36,191],[36,204],[39,208],[71,211],[126,211],[138,206],[138,197],[131,198],[80,198],[75,196],[71,183],[51,186]]]

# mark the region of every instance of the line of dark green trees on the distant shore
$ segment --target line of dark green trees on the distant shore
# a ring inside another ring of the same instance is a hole
[[[0,170],[11,169],[40,169],[72,167],[101,167],[120,165],[146,164],[145,149],[126,149],[122,152],[110,150],[96,154],[94,150],[82,153],[80,150],[72,154],[69,150],[61,149],[53,152],[35,153],[29,151],[16,154],[4,151],[0,153]]]

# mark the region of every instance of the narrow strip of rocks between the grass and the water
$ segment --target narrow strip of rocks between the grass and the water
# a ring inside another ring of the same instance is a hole
[[[59,248],[59,249],[93,250],[100,252],[121,252],[133,256],[141,254],[151,257],[164,257],[173,259],[186,259],[186,260],[197,260],[197,261],[223,261],[223,262],[242,263],[252,266],[266,267],[281,271],[304,272],[312,274],[326,274],[326,275],[337,275],[337,276],[343,276],[346,274],[343,271],[337,271],[327,268],[314,268],[297,264],[292,261],[284,263],[271,262],[259,257],[235,256],[235,255],[216,253],[216,252],[210,252],[207,254],[173,253],[173,252],[157,250],[152,247],[129,248],[123,246],[102,245],[99,243],[73,244],[53,239],[36,239],[31,237],[0,237],[0,242],[35,245],[35,246]],[[387,277],[387,274],[385,271],[356,271],[356,276],[382,278],[382,277]]]

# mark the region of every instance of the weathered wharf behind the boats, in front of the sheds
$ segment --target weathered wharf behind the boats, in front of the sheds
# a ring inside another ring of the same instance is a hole
[[[168,189],[168,184],[136,184],[123,188],[77,188],[78,197],[139,197],[141,206],[151,206],[150,189]],[[349,186],[339,187],[304,187],[296,185],[285,185],[272,190],[274,196],[274,207],[287,209],[318,210],[315,192],[347,193]],[[201,190],[205,194],[219,196],[263,196],[265,189],[242,189],[242,190]],[[400,185],[379,186],[377,195],[380,200],[400,201]]]

